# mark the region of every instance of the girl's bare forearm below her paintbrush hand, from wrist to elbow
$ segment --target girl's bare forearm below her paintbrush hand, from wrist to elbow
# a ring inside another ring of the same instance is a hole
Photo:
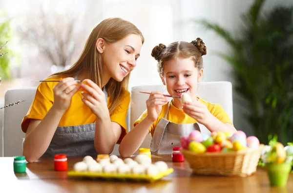
[[[148,116],[138,123],[127,135],[123,138],[119,146],[119,153],[123,158],[130,157],[141,146],[146,136],[149,134],[149,127],[153,123]]]

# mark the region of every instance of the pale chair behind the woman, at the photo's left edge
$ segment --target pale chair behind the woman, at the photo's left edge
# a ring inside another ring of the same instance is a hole
[[[4,108],[3,126],[0,132],[0,157],[22,155],[22,140],[25,134],[21,131],[21,121],[35,97],[36,89],[36,87],[12,88],[5,92],[5,105],[25,101],[19,105]],[[116,144],[111,154],[119,155],[118,147],[119,145]]]

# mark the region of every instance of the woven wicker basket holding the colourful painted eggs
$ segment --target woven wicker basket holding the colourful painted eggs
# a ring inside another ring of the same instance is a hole
[[[182,149],[193,173],[199,175],[248,176],[256,172],[256,167],[264,145],[237,152],[196,154]]]

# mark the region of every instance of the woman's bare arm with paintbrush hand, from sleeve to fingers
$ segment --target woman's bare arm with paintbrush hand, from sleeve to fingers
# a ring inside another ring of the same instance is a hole
[[[71,97],[79,88],[74,78],[64,78],[54,87],[54,103],[44,118],[30,120],[22,150],[28,162],[37,160],[45,153],[64,112],[70,105]]]

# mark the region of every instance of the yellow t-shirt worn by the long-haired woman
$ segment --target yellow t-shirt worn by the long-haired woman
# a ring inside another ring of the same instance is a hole
[[[62,78],[47,78],[46,80],[61,80]],[[21,129],[26,133],[29,120],[42,120],[54,102],[53,88],[58,82],[42,82],[37,88],[36,96],[21,122]],[[82,101],[82,89],[75,93],[71,98],[69,108],[63,114],[58,126],[73,126],[88,123],[95,123],[96,116],[91,112],[90,108]],[[107,105],[110,105],[110,97],[107,98]],[[123,94],[120,104],[112,115],[110,115],[111,122],[120,124],[123,129],[120,136],[119,143],[126,135],[126,114],[130,103],[130,93],[127,91]]]

